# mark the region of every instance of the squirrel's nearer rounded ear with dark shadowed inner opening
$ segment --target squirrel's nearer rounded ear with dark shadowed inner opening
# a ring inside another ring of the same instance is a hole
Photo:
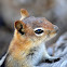
[[[23,23],[22,21],[16,21],[14,24],[14,27],[17,29],[17,31],[19,31],[22,35],[25,34],[25,26],[26,24]]]

